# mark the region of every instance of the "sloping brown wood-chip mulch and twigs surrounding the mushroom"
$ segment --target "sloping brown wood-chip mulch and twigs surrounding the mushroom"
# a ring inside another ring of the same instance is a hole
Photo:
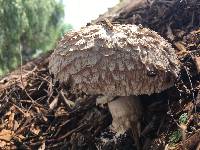
[[[112,21],[155,30],[174,46],[182,66],[174,87],[141,96],[143,148],[195,149],[200,142],[200,1],[140,2],[112,12]],[[107,106],[96,106],[97,95],[52,81],[49,55],[0,80],[0,148],[134,149],[129,131],[121,137],[111,132],[111,115]]]

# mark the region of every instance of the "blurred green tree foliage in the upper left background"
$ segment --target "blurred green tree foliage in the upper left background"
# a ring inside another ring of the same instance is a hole
[[[51,49],[61,35],[63,4],[57,0],[0,0],[0,74],[23,58]]]

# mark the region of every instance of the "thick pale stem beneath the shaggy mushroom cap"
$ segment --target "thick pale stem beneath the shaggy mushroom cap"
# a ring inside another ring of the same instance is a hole
[[[139,149],[140,118],[142,115],[139,97],[121,96],[108,103],[112,115],[112,128],[117,134],[132,130],[134,142]]]

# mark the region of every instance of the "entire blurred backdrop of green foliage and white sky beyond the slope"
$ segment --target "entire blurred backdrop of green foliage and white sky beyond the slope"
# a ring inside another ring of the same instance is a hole
[[[0,0],[0,76],[52,50],[119,0]],[[21,59],[22,56],[22,59]]]

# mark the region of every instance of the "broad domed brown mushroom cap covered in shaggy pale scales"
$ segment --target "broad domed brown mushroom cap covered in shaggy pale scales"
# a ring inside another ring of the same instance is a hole
[[[60,82],[88,94],[159,93],[174,85],[179,63],[171,44],[136,25],[90,25],[67,33],[49,60]]]

